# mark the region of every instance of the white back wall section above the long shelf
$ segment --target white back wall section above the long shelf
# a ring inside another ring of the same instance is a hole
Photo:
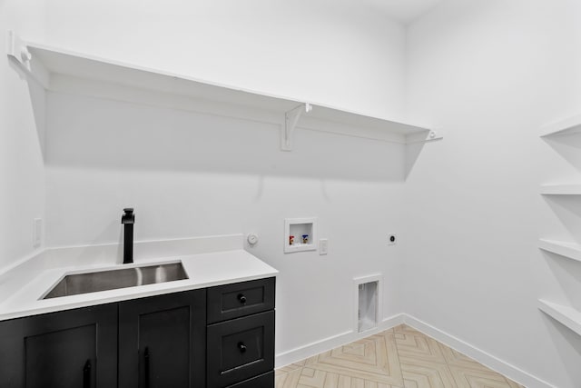
[[[402,114],[405,31],[357,2],[54,0],[47,15],[50,44],[361,113]]]

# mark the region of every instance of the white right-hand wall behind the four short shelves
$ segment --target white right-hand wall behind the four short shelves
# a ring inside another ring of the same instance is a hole
[[[581,382],[581,340],[536,301],[581,307],[581,270],[536,246],[580,241],[581,212],[538,186],[581,164],[578,140],[538,130],[581,113],[579,15],[574,0],[448,0],[408,35],[409,114],[445,139],[406,183],[405,311],[560,388]]]

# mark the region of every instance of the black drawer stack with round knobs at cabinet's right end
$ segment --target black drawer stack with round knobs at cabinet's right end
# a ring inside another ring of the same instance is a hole
[[[208,388],[274,387],[274,287],[272,277],[208,289]]]

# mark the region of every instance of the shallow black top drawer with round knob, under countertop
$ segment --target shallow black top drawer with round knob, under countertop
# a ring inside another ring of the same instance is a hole
[[[274,308],[274,278],[208,289],[208,323],[226,321]]]

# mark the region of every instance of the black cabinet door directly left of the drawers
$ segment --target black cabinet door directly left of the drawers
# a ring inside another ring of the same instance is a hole
[[[119,303],[119,386],[205,384],[205,290]]]

